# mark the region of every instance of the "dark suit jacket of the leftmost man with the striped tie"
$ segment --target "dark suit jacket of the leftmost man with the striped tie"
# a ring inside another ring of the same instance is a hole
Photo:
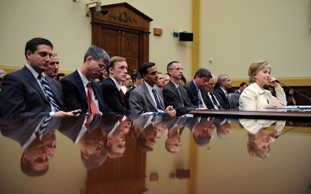
[[[57,105],[64,111],[61,84],[47,76]],[[27,67],[14,73],[7,74],[2,80],[0,106],[3,117],[48,116],[51,112],[49,99]]]

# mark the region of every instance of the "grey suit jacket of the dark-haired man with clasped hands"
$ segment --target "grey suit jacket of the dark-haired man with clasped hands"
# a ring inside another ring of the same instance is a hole
[[[161,105],[165,108],[162,91],[157,87],[154,88]],[[143,114],[144,112],[158,112],[158,108],[153,101],[145,82],[131,92],[129,101],[131,110],[136,114]]]

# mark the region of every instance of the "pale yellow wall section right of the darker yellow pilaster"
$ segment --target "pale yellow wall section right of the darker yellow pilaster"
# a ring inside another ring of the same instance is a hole
[[[267,60],[272,76],[308,76],[311,85],[310,0],[201,0],[201,7],[201,64],[216,78],[248,80],[250,64]]]

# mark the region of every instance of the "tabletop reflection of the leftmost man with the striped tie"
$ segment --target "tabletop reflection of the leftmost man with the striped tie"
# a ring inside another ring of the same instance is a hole
[[[56,137],[54,136],[55,149],[47,152],[48,137],[55,134],[61,118],[37,117],[0,120],[1,134],[18,141],[23,149],[20,158],[21,171],[30,177],[44,175],[48,170],[48,154],[53,156],[56,150]]]

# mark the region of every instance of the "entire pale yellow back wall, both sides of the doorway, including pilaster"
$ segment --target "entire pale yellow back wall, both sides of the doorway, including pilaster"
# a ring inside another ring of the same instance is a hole
[[[91,44],[91,18],[84,0],[0,1],[0,68],[8,72],[25,64],[24,46],[33,37],[49,39],[60,54],[60,72],[80,67]],[[104,0],[103,4],[124,2]],[[178,60],[187,80],[199,67],[216,77],[247,80],[256,60],[272,64],[272,76],[311,85],[310,0],[127,0],[153,19],[149,60],[166,73]],[[179,42],[175,31],[194,32],[194,42]],[[192,47],[193,46],[193,47]],[[208,63],[213,59],[213,63]],[[238,84],[234,83],[234,86]]]

